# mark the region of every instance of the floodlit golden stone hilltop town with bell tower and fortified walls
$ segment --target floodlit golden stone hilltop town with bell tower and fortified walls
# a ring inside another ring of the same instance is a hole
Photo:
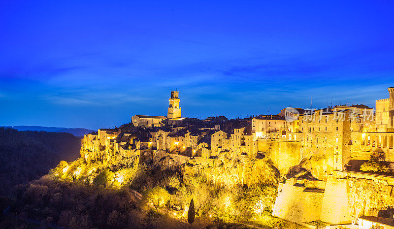
[[[382,219],[394,213],[394,87],[388,91],[375,108],[284,108],[231,120],[182,117],[179,92],[172,91],[167,116],[134,115],[119,128],[86,134],[81,159],[122,168],[139,158],[212,172],[227,158],[235,170],[223,182],[251,184],[271,179],[268,170],[278,173],[273,216],[348,228],[386,225]]]

